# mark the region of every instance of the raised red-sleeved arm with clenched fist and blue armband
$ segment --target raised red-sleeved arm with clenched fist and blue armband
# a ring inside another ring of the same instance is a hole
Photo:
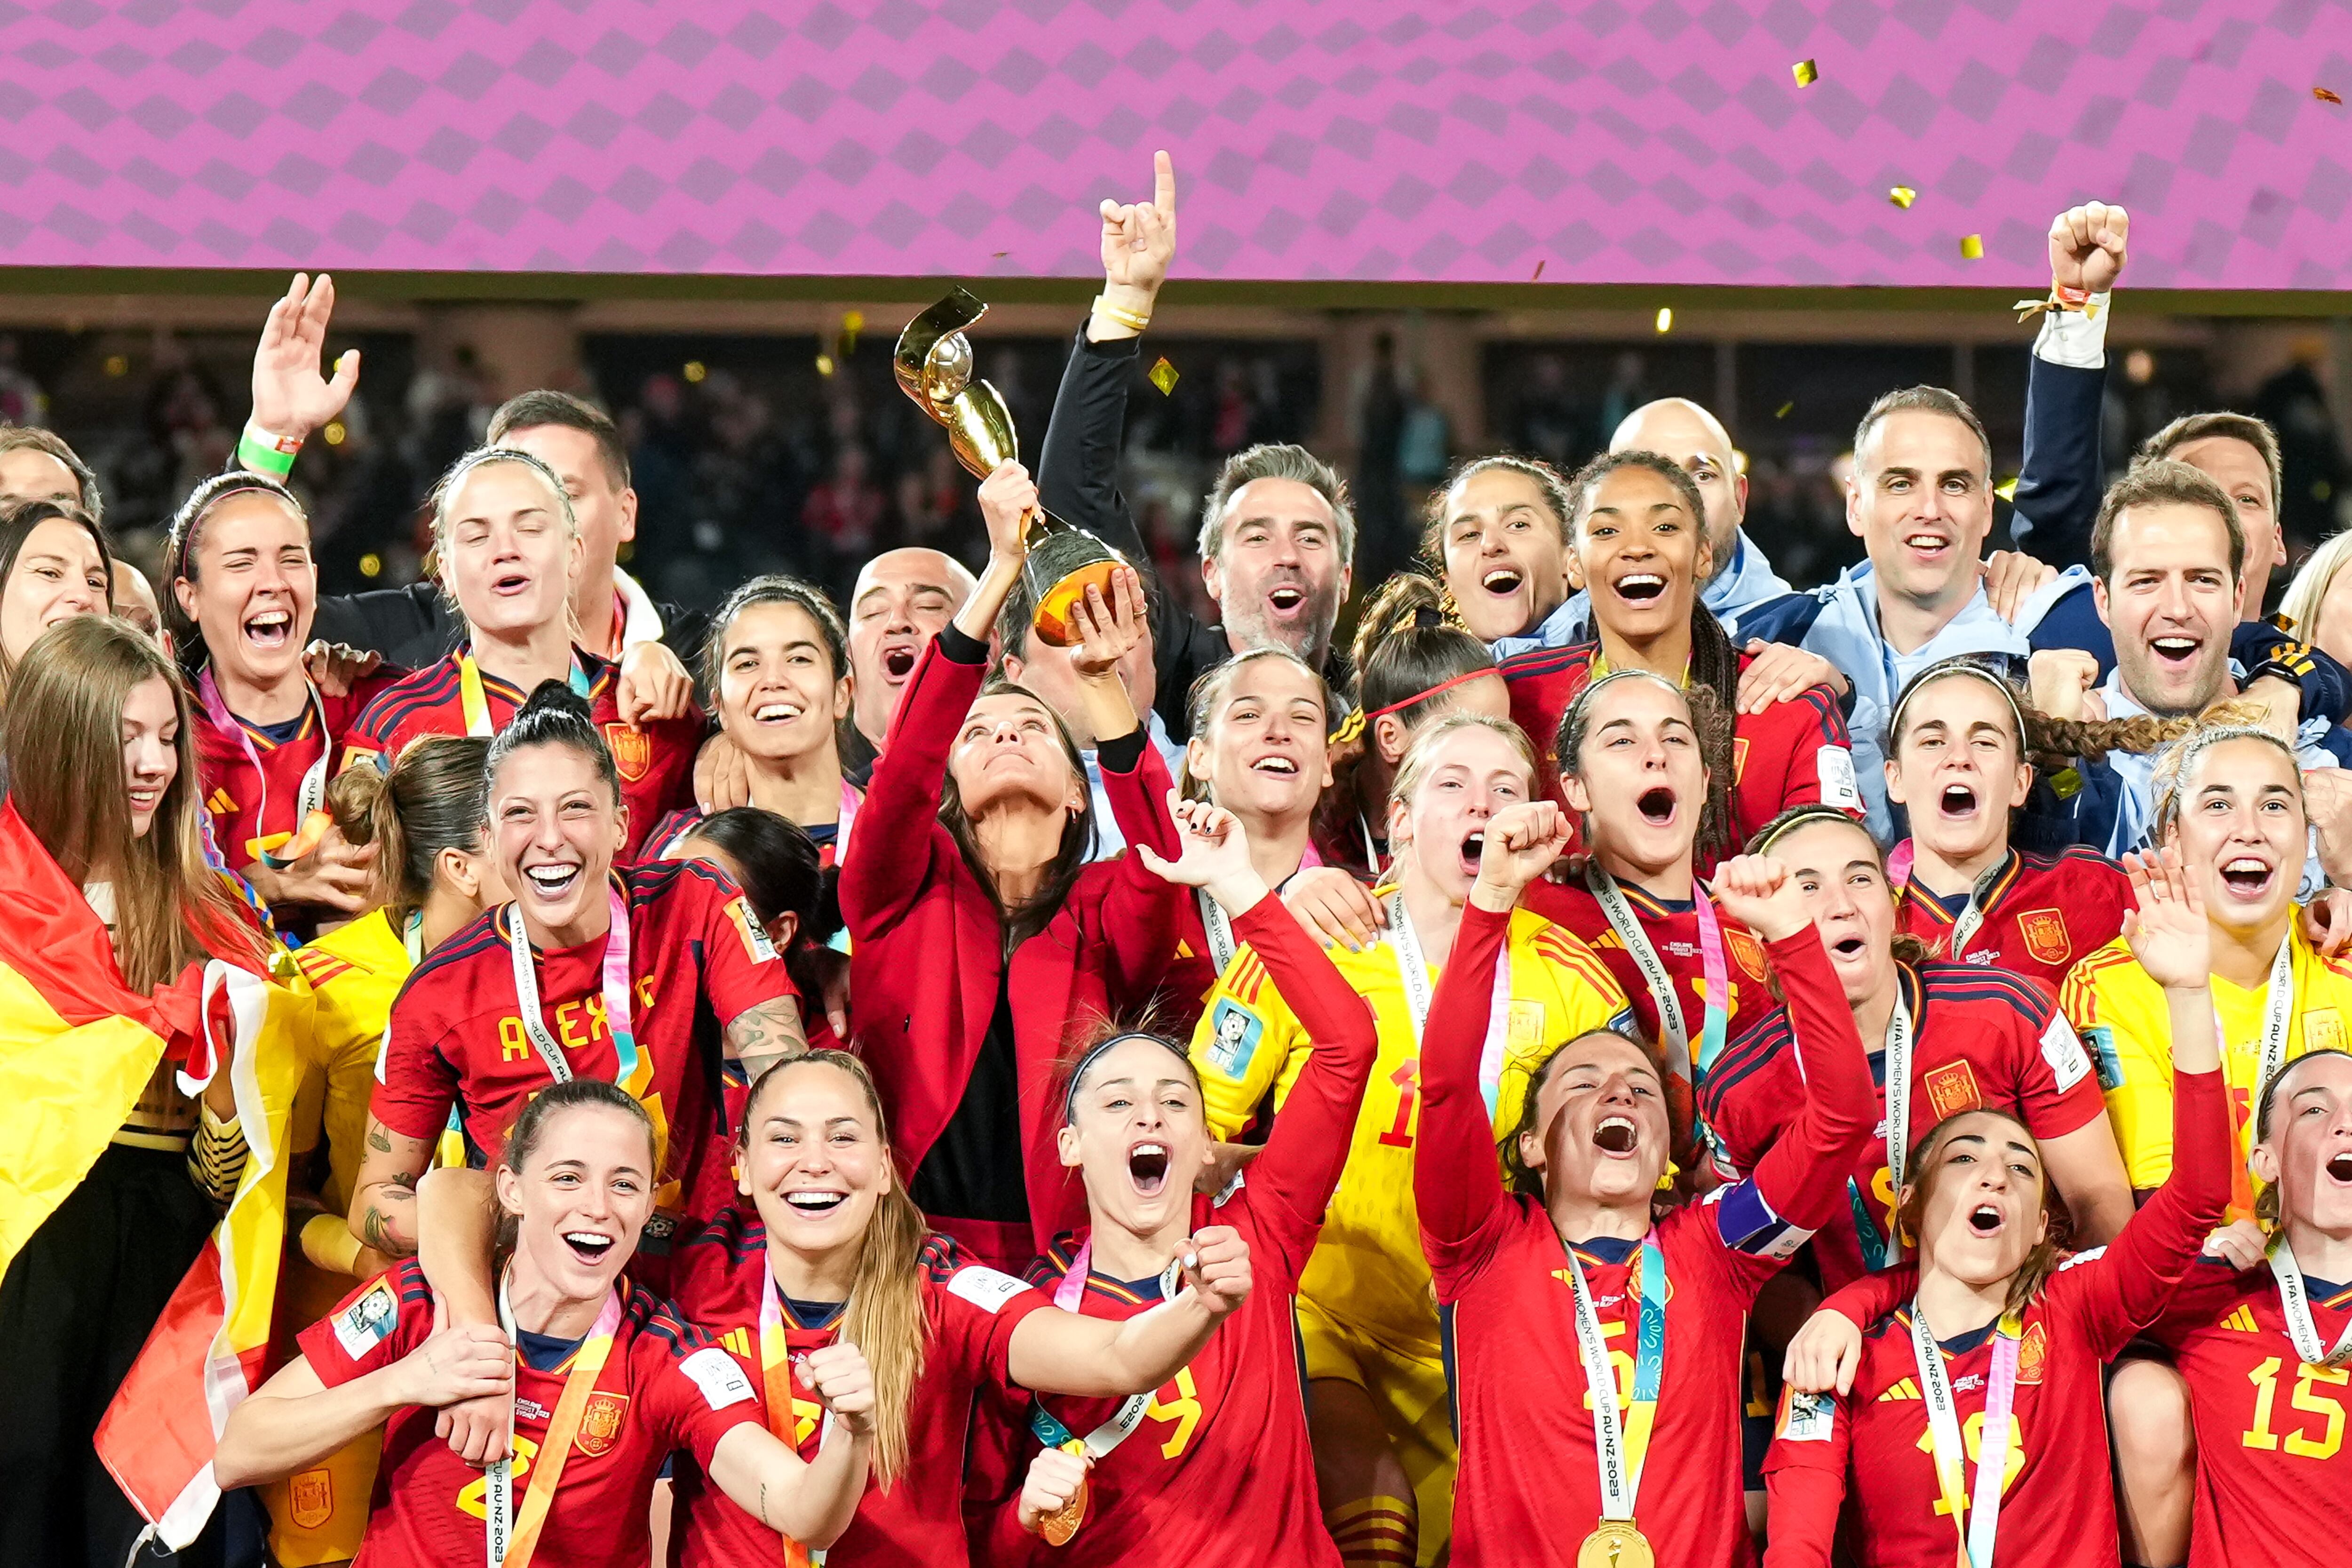
[[[1717,867],[1712,889],[1726,917],[1764,938],[1804,1063],[1804,1103],[1757,1161],[1752,1182],[1776,1215],[1820,1229],[1844,1208],[1846,1173],[1877,1124],[1870,1058],[1788,867],[1769,856],[1736,856]]]

